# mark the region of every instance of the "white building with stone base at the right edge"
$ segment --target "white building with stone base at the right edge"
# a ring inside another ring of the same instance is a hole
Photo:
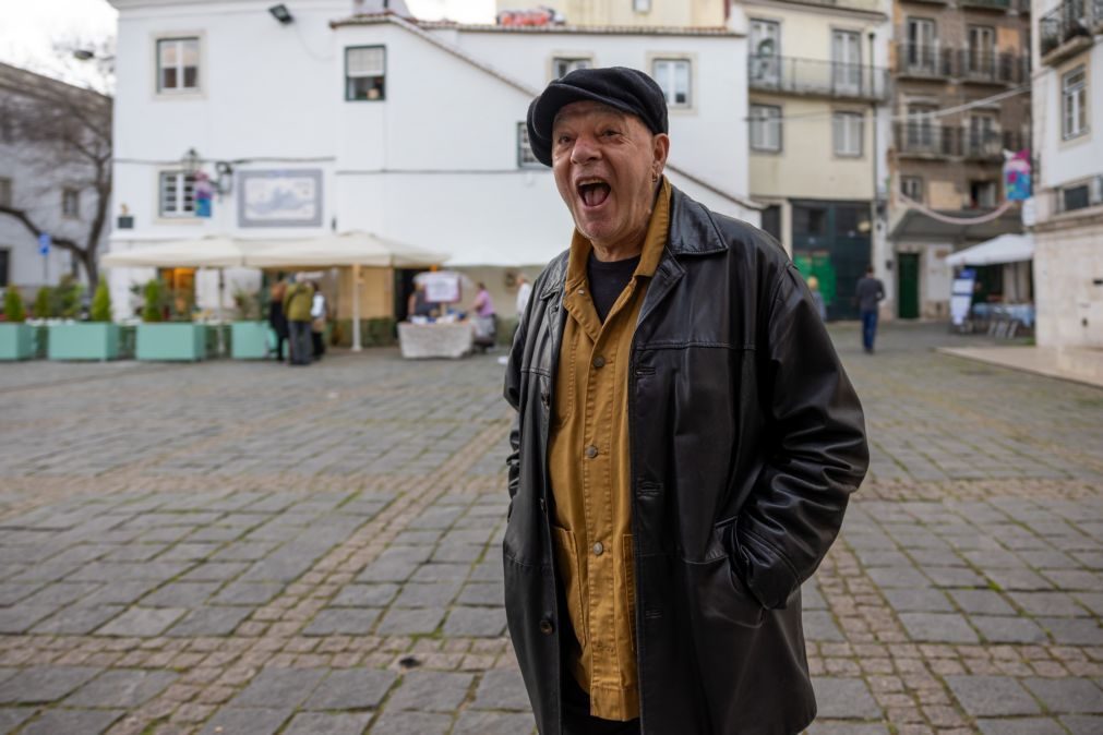
[[[1038,344],[1103,348],[1103,0],[1035,0],[1034,18]]]

